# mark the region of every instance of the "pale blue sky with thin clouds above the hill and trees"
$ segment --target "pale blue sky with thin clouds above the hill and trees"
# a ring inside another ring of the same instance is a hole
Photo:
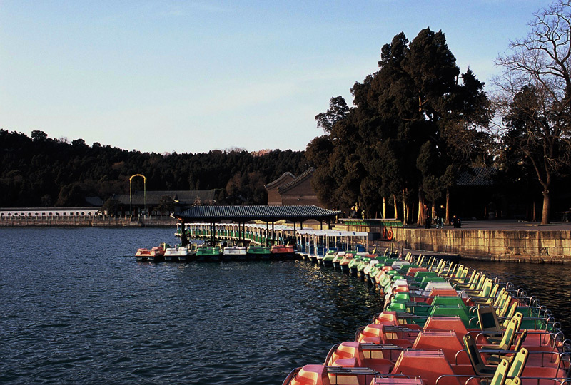
[[[482,81],[544,0],[0,0],[0,128],[126,150],[304,150],[404,31]]]

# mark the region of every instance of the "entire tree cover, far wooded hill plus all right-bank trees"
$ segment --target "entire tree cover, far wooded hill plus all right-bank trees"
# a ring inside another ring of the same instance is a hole
[[[218,203],[264,204],[264,184],[314,166],[312,185],[325,207],[358,207],[359,215],[424,225],[440,205],[450,221],[459,175],[494,166],[482,173],[497,175],[493,190],[463,190],[470,194],[457,206],[485,191],[490,197],[482,198],[478,217],[498,204],[510,216],[507,201],[517,197],[511,207],[521,212],[524,201],[525,217],[535,220],[535,202],[542,200],[547,224],[553,202],[560,214],[571,211],[571,0],[537,11],[530,27],[497,59],[502,73],[490,98],[470,68],[460,71],[442,31],[423,29],[412,41],[394,36],[381,49],[379,70],[351,88],[352,106],[336,96],[315,116],[324,135],[305,152],[161,155],[69,143],[40,130],[31,138],[0,130],[0,206],[83,205],[89,195],[106,200],[128,193],[136,173],[146,175],[148,190],[218,189]],[[168,211],[172,202],[165,198],[160,210]],[[116,204],[106,202],[109,210]]]

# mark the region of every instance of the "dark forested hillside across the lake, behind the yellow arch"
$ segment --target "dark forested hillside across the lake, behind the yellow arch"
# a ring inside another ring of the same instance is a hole
[[[113,193],[128,193],[129,177],[136,173],[146,176],[147,190],[220,189],[219,203],[265,204],[264,184],[309,167],[303,151],[162,155],[90,146],[82,139],[68,143],[42,131],[29,138],[0,130],[0,151],[0,207],[81,206],[86,196],[106,200]],[[143,188],[140,179],[133,180],[133,189]]]

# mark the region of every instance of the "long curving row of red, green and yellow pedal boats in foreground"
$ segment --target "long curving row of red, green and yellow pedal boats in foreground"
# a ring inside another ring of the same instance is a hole
[[[302,257],[367,279],[383,311],[284,385],[571,384],[571,342],[524,290],[437,257],[330,254]]]

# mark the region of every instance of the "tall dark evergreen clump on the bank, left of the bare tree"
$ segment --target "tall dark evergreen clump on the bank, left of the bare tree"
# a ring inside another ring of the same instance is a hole
[[[351,88],[354,107],[332,98],[315,117],[325,135],[306,151],[318,166],[314,188],[330,207],[357,203],[369,217],[387,215],[391,201],[405,222],[418,202],[422,225],[425,204],[434,207],[460,170],[482,158],[489,138],[478,128],[492,116],[490,102],[470,69],[460,73],[441,31],[424,29],[410,42],[398,34],[378,65]]]

